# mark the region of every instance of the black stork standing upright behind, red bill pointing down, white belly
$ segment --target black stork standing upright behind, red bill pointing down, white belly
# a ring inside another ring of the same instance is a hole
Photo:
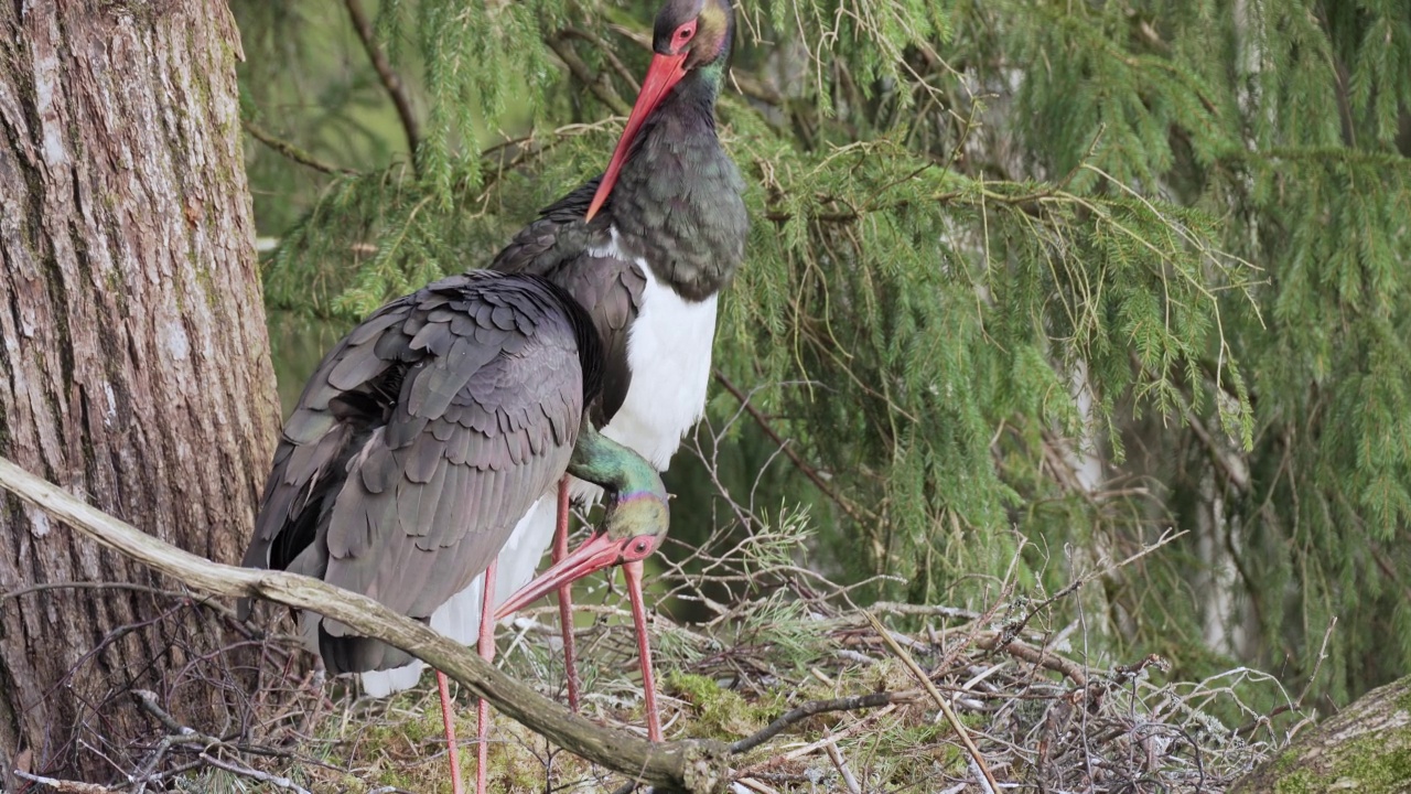
[[[588,309],[605,343],[602,394],[590,407],[591,420],[662,470],[704,413],[715,301],[744,259],[749,229],[744,179],[715,134],[734,24],[728,0],[667,0],[656,16],[646,79],[607,171],[545,209],[490,266],[545,275]],[[550,541],[555,561],[563,559],[570,487],[579,499],[594,494],[566,479],[557,499],[546,493],[531,509],[499,554],[490,588],[495,603],[531,579]],[[432,627],[471,641],[481,592],[471,586],[459,593]],[[576,708],[569,610],[564,586],[560,623]],[[363,680],[375,695],[411,687],[418,674]],[[659,740],[659,729],[650,737]]]

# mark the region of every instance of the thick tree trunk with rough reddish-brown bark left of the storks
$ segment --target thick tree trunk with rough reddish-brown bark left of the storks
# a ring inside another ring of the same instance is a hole
[[[240,57],[219,0],[0,3],[0,455],[227,562],[278,420]],[[217,626],[150,592],[52,586],[179,583],[14,497],[0,543],[0,790],[16,766],[130,771],[134,687],[190,725],[222,715],[216,688],[178,687]]]

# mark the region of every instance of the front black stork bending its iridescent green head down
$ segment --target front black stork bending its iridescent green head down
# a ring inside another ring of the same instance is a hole
[[[468,273],[392,301],[309,379],[244,564],[317,576],[429,620],[487,571],[566,472],[608,492],[602,531],[622,538],[625,559],[650,554],[666,531],[666,492],[652,465],[586,421],[601,370],[591,318],[538,275]],[[487,657],[488,617],[478,629]],[[329,674],[411,660],[315,613],[302,615],[301,632]],[[444,675],[437,682],[460,794]]]

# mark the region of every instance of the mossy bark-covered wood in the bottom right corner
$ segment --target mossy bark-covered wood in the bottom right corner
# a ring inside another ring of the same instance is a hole
[[[1411,677],[1357,698],[1230,788],[1266,791],[1411,791]]]

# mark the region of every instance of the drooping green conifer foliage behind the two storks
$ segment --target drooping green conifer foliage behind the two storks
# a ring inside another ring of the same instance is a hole
[[[343,324],[597,174],[655,11],[234,7],[267,301]],[[1085,602],[1109,648],[1301,684],[1336,619],[1316,691],[1405,670],[1403,1],[737,14],[721,136],[753,230],[717,365],[809,469],[758,499],[814,507],[814,564],[965,602],[1019,538],[1043,592],[1175,527]]]

